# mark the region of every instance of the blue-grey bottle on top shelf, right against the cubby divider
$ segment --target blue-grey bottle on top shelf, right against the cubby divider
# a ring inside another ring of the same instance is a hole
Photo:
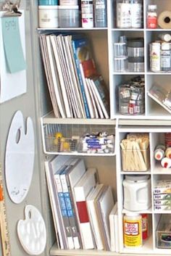
[[[94,0],[93,7],[95,27],[107,27],[107,0]]]

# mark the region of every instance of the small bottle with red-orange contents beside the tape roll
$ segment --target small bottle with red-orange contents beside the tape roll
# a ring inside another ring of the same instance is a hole
[[[157,5],[149,4],[146,20],[147,28],[157,28]]]

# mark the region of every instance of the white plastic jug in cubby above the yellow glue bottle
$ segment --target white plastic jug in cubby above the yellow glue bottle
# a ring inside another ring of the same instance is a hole
[[[148,175],[126,175],[123,181],[124,208],[130,211],[149,209],[151,182]]]

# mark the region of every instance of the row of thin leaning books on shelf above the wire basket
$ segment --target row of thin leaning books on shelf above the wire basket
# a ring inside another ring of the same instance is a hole
[[[109,118],[109,91],[88,38],[42,34],[41,56],[56,117]]]

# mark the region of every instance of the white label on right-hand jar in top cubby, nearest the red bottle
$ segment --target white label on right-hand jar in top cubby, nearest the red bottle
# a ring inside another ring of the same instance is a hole
[[[142,4],[131,4],[131,27],[141,28]]]

